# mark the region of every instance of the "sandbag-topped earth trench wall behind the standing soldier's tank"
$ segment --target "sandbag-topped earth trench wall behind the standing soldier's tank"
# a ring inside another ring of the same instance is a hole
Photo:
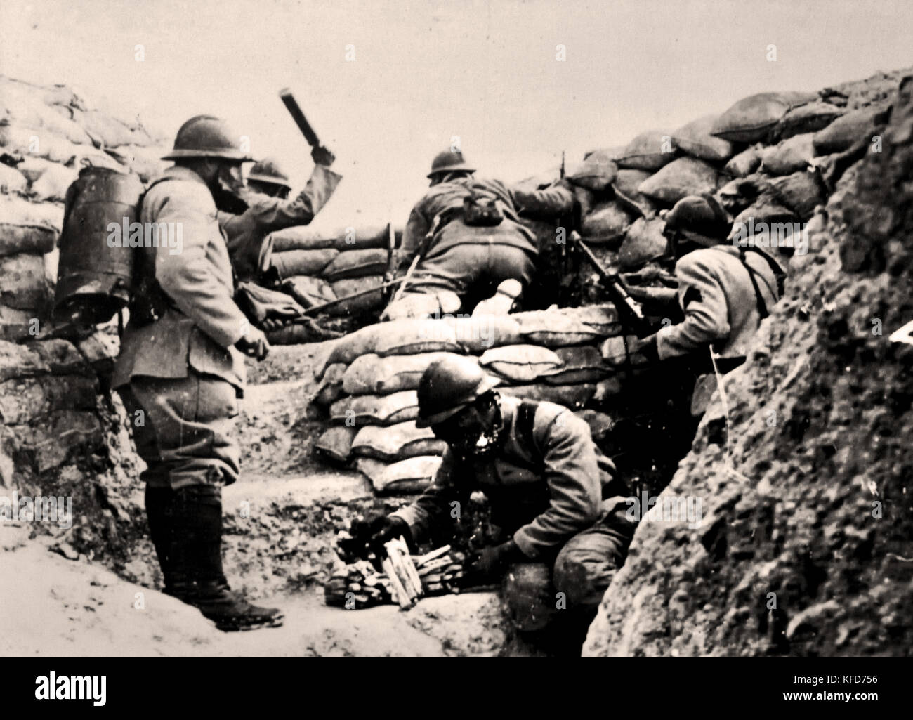
[[[139,123],[90,110],[68,88],[0,77],[0,497],[18,493],[26,520],[37,508],[23,498],[70,498],[71,526],[32,526],[72,558],[126,548],[144,521],[138,459],[108,388],[116,327],[49,332],[63,197],[83,161],[148,179],[160,154]]]

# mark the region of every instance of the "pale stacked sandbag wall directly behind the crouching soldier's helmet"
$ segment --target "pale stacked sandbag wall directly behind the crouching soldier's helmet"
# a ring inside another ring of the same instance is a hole
[[[376,492],[422,490],[445,446],[415,427],[416,389],[425,368],[448,353],[498,377],[502,395],[580,412],[598,436],[611,421],[587,408],[620,390],[598,345],[620,331],[611,305],[369,325],[335,341],[319,370],[312,403],[329,428],[315,452],[362,471]]]

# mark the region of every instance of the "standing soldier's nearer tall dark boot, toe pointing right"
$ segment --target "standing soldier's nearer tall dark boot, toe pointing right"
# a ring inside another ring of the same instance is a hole
[[[275,608],[258,608],[228,587],[222,570],[222,498],[217,487],[197,485],[174,492],[168,547],[172,581],[166,592],[200,610],[219,630],[278,628]]]

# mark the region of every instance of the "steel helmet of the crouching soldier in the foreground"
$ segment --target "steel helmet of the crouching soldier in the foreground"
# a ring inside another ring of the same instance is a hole
[[[436,360],[418,381],[418,419],[415,425],[429,428],[456,415],[469,403],[498,385],[467,357],[460,355]]]

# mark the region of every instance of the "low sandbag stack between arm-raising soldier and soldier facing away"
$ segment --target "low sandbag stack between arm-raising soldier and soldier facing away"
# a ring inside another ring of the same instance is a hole
[[[402,231],[394,231],[395,241]],[[336,228],[297,226],[269,236],[272,267],[286,290],[305,307],[370,290],[388,270],[390,226]],[[334,316],[359,316],[381,308],[383,291],[369,292],[327,309]]]

